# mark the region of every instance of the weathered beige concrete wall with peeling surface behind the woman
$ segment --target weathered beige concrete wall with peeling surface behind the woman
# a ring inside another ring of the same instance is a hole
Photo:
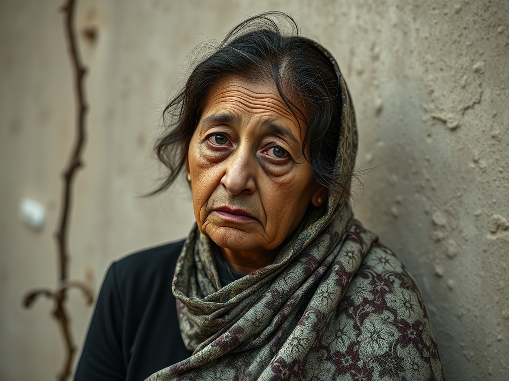
[[[62,342],[39,300],[56,284],[60,175],[74,134],[63,1],[0,2],[0,379],[46,380]],[[76,18],[90,103],[85,167],[70,221],[71,277],[97,292],[107,265],[187,234],[183,184],[138,195],[160,175],[160,111],[187,53],[245,16],[289,12],[337,57],[360,130],[364,197],[356,213],[406,263],[431,315],[447,379],[509,378],[509,3],[81,0]],[[82,31],[96,28],[97,40]],[[357,187],[360,192],[360,187]],[[22,197],[47,210],[41,232]],[[69,305],[78,345],[92,308]]]

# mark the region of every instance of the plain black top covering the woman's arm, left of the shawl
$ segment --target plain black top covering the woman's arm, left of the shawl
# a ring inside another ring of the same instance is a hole
[[[113,263],[104,278],[75,381],[144,380],[188,358],[172,280],[184,241]]]

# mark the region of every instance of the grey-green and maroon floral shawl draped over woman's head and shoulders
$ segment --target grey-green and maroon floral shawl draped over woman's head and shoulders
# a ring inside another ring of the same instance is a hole
[[[353,169],[357,132],[346,82],[331,62],[343,97],[340,175]],[[331,193],[272,265],[222,288],[214,245],[195,227],[173,280],[193,354],[147,380],[443,379],[414,281],[353,219],[345,197]]]

